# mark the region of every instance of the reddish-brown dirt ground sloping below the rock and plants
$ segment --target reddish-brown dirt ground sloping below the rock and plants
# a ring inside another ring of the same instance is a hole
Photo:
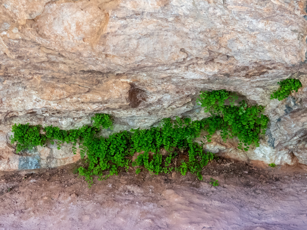
[[[0,172],[0,230],[307,229],[307,171],[219,159],[204,180],[121,172],[91,188],[74,170]],[[210,178],[219,186],[209,184]]]

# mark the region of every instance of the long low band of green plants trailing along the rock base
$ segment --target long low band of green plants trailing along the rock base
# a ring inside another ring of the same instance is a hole
[[[80,155],[87,159],[87,167],[79,167],[79,176],[84,176],[88,185],[93,184],[93,177],[98,180],[105,180],[111,175],[117,175],[120,168],[128,171],[129,166],[144,166],[152,174],[159,172],[171,173],[173,170],[179,170],[182,174],[190,171],[196,173],[201,180],[201,170],[207,165],[208,161],[213,159],[213,154],[204,152],[201,145],[193,143],[193,139],[199,136],[201,130],[205,127],[206,121],[191,121],[189,118],[175,120],[170,118],[163,119],[161,126],[150,129],[132,129],[130,132],[122,131],[114,133],[107,138],[97,136],[100,128],[111,128],[112,119],[107,114],[95,114],[92,117],[93,126],[83,126],[77,129],[61,130],[52,125],[13,125],[12,143],[17,142],[17,151],[26,148],[56,142],[58,148],[63,143],[72,143],[72,150],[76,153],[76,145],[79,142]],[[41,134],[42,132],[45,134]],[[188,161],[183,161],[179,168],[170,167],[171,161],[177,156],[173,148],[187,149],[189,153]],[[170,151],[166,159],[162,161],[160,148]],[[144,151],[139,154],[134,162],[128,159],[134,152]],[[149,152],[153,155],[150,158]],[[163,165],[165,167],[163,167]],[[140,169],[136,170],[138,173]]]

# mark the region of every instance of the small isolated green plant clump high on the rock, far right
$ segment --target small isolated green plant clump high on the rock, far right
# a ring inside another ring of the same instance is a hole
[[[281,82],[277,82],[279,84],[278,90],[276,90],[273,94],[271,94],[270,99],[277,99],[278,101],[282,101],[287,98],[294,91],[297,92],[302,84],[298,79],[285,79]]]

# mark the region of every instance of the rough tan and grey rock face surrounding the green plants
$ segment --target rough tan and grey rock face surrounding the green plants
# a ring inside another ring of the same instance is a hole
[[[207,117],[195,103],[199,91],[220,89],[265,105],[270,125],[258,148],[239,152],[235,139],[225,144],[217,133],[208,150],[307,164],[305,7],[303,0],[0,1],[0,170],[76,160],[52,146],[14,154],[14,123],[73,128],[109,113],[114,131],[147,128],[163,117]],[[303,87],[270,100],[288,77]]]

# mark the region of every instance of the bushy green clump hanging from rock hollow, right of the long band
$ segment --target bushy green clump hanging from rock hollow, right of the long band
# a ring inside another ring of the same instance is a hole
[[[225,105],[227,99],[230,105]],[[238,148],[247,151],[251,144],[259,147],[259,135],[265,133],[269,119],[262,114],[264,106],[248,105],[244,100],[235,106],[237,99],[235,93],[226,90],[202,91],[198,104],[205,108],[205,112],[212,114],[204,121],[208,142],[212,134],[220,130],[224,141],[237,136],[240,141]]]

